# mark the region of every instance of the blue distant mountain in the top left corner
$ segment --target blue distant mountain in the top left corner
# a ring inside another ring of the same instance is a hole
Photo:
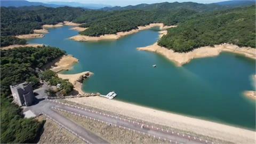
[[[29,1],[23,1],[23,0],[13,0],[13,1],[1,0],[0,4],[1,4],[1,6],[5,6],[5,7],[38,6],[38,5],[42,5],[42,6],[46,6],[46,7],[60,7],[61,6],[61,5],[55,5],[55,4],[45,4],[45,3],[29,2]]]

